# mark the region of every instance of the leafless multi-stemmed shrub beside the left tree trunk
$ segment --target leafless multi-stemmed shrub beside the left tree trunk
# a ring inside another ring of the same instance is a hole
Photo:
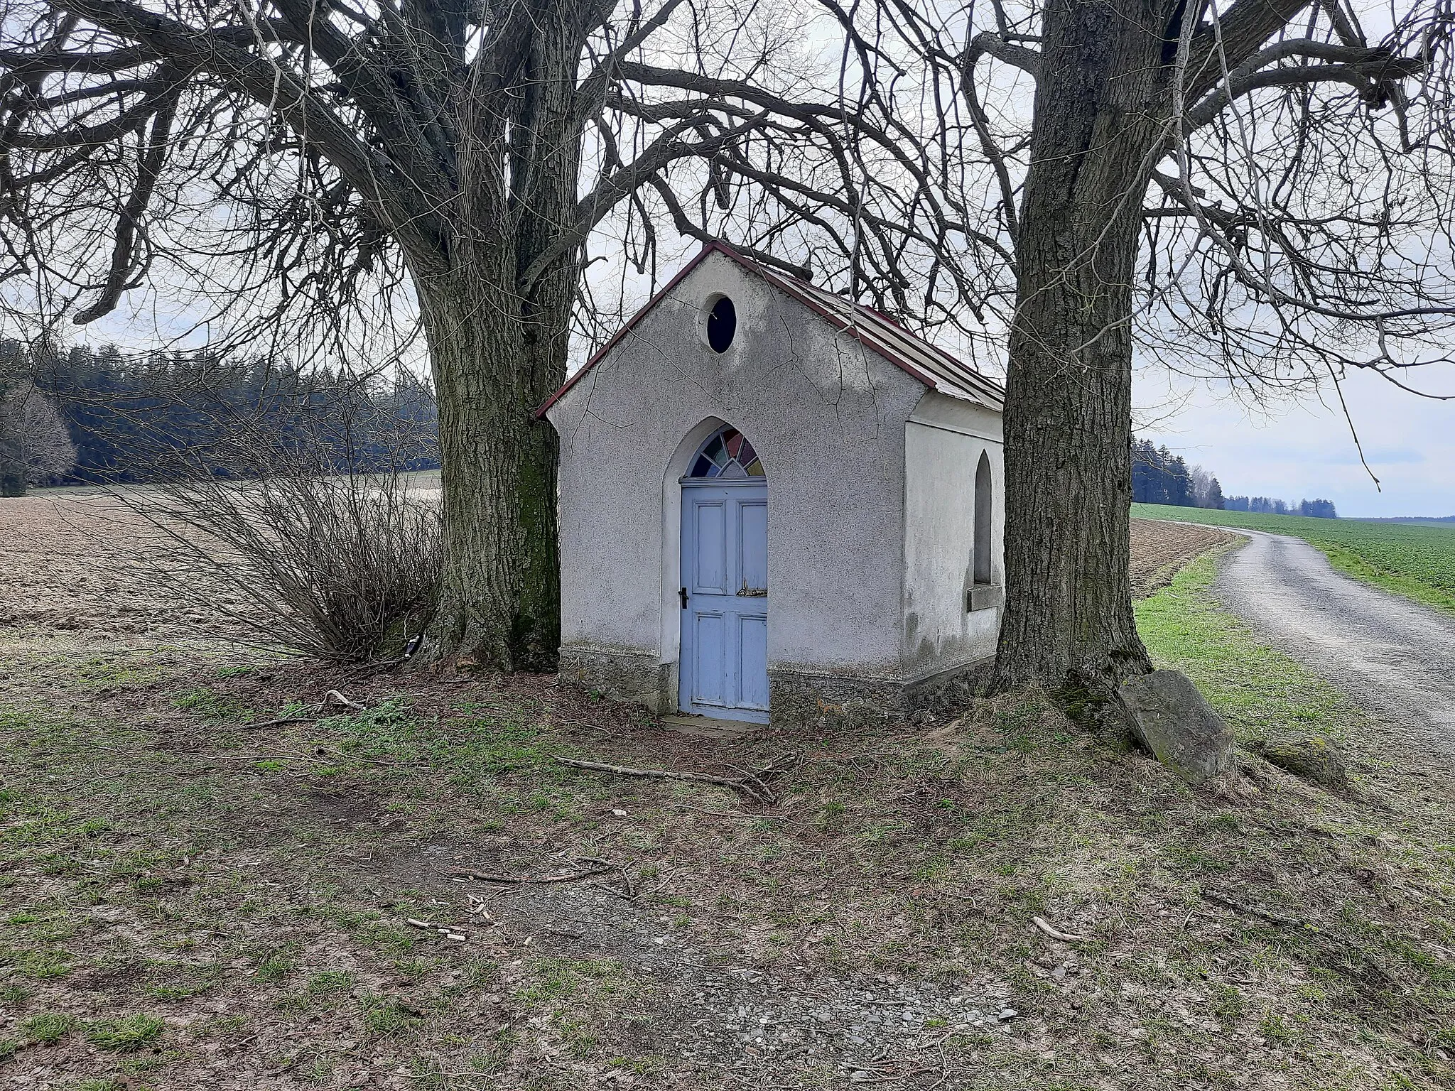
[[[399,470],[429,457],[432,431],[358,390],[307,407],[214,420],[223,439],[157,454],[164,483],[113,495],[163,532],[150,570],[185,608],[260,647],[400,659],[439,591],[438,486]]]

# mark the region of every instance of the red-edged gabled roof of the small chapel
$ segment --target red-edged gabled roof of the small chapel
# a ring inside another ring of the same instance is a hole
[[[1001,412],[1005,407],[1005,387],[988,375],[982,375],[937,345],[931,345],[924,337],[917,337],[904,326],[886,314],[853,300],[845,300],[831,291],[825,291],[808,281],[790,276],[789,273],[771,269],[761,262],[744,257],[725,243],[711,241],[703,246],[693,260],[677,273],[656,295],[653,295],[642,310],[633,314],[627,323],[601,349],[586,361],[586,364],[546,400],[535,416],[541,416],[567,390],[570,390],[582,375],[594,368],[617,343],[631,330],[633,326],[666,297],[681,281],[710,253],[720,253],[732,259],[754,276],[761,276],[778,291],[793,297],[810,311],[828,321],[840,333],[854,337],[864,348],[888,359],[905,374],[920,380],[924,385],[949,397],[963,401],[973,401],[986,409]]]

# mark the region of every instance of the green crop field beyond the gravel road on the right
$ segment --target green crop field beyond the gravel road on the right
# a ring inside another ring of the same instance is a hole
[[[1317,546],[1336,569],[1350,576],[1455,611],[1455,527],[1215,512],[1160,503],[1133,503],[1132,516],[1288,534]]]

